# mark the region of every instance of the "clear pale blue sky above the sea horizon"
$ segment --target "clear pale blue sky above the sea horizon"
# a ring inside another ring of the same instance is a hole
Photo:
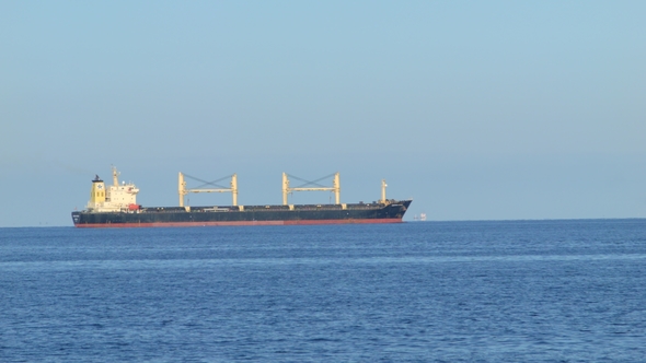
[[[178,172],[237,173],[241,204],[280,203],[282,172],[339,172],[342,202],[385,179],[408,221],[646,218],[644,19],[644,1],[2,1],[0,227],[71,226],[111,165],[142,206],[177,206]]]

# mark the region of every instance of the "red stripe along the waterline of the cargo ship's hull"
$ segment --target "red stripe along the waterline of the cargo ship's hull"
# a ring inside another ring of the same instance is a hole
[[[305,224],[362,224],[401,223],[400,218],[379,220],[303,220],[303,221],[240,221],[240,222],[168,222],[168,223],[88,223],[74,224],[79,229],[125,229],[170,226],[226,226],[226,225],[305,225]]]

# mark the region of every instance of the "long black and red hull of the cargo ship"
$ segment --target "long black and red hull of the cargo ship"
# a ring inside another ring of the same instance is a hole
[[[411,200],[388,204],[145,208],[127,212],[72,212],[77,227],[170,227],[401,223]]]

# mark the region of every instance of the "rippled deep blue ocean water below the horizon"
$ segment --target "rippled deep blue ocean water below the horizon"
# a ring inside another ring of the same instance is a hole
[[[0,361],[646,361],[646,220],[0,229]]]

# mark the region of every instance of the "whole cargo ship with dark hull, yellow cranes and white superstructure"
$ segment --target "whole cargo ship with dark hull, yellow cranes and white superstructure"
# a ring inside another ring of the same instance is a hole
[[[332,187],[291,188],[288,175],[282,173],[282,204],[239,206],[238,176],[231,176],[230,188],[187,189],[185,175],[178,174],[178,207],[145,207],[137,203],[139,189],[132,183],[118,182],[119,173],[112,169],[113,185],[106,185],[99,175],[92,180],[90,201],[82,211],[72,212],[77,227],[165,227],[165,226],[224,226],[224,225],[298,225],[298,224],[354,224],[401,223],[412,200],[385,198],[385,180],[381,182],[381,199],[371,203],[342,203],[338,173]],[[198,179],[199,180],[199,179]],[[302,180],[302,179],[301,179]],[[204,180],[200,180],[204,182]],[[310,182],[308,184],[312,184]],[[212,184],[212,183],[207,183]],[[330,190],[335,203],[289,204],[293,191]],[[231,206],[184,206],[189,192],[231,192]]]

